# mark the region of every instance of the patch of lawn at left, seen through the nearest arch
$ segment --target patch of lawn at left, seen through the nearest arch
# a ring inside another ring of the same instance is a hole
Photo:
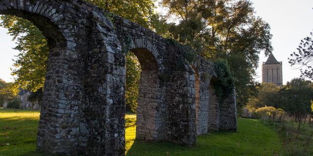
[[[39,115],[39,111],[0,109],[0,156],[35,151]]]

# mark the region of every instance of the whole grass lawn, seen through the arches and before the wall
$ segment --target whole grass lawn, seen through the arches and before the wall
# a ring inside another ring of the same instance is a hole
[[[38,111],[0,109],[0,156],[44,156],[36,153]],[[127,156],[276,156],[282,141],[259,120],[238,118],[238,131],[199,136],[194,147],[134,140],[135,115],[126,115]]]

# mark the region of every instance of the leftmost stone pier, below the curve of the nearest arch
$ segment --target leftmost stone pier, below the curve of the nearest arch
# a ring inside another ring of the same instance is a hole
[[[50,49],[38,127],[37,148],[48,153],[77,154],[82,71],[67,50]]]

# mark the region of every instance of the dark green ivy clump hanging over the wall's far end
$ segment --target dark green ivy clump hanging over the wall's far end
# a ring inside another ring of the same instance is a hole
[[[227,61],[224,59],[217,59],[215,62],[215,70],[217,80],[213,81],[213,84],[215,87],[215,93],[221,100],[234,92],[234,78],[229,70]]]

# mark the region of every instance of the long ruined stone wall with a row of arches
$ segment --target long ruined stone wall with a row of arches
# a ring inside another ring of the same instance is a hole
[[[166,39],[137,23],[83,0],[0,0],[0,14],[32,21],[48,39],[39,150],[125,155],[126,46],[142,68],[137,139],[194,145],[199,134],[237,129],[235,93],[217,99],[213,63],[171,68]]]

